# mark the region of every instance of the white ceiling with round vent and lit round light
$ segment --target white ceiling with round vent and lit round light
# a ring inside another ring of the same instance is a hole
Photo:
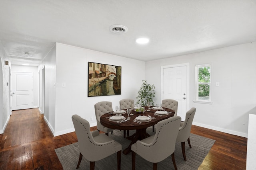
[[[56,42],[152,61],[256,41],[256,0],[0,0],[0,40],[12,64]]]

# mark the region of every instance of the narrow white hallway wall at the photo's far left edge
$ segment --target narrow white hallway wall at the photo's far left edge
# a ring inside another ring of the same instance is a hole
[[[0,134],[4,133],[6,125],[10,119],[10,93],[9,93],[9,75],[10,66],[5,65],[8,56],[4,51],[2,42],[0,41]],[[9,62],[10,64],[10,62]],[[8,85],[7,85],[8,83]]]

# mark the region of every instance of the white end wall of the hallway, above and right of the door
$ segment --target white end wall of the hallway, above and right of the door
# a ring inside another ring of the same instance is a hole
[[[22,66],[12,64],[12,72],[32,72],[33,73],[33,107],[39,107],[39,73],[37,66]]]

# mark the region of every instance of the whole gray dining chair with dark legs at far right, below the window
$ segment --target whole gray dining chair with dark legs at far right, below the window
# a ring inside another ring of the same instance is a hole
[[[192,107],[189,111],[187,111],[185,121],[182,121],[180,123],[180,129],[179,129],[177,141],[181,142],[181,149],[182,149],[184,160],[187,160],[186,153],[185,153],[185,141],[188,141],[189,147],[192,148],[190,145],[189,136],[190,136],[191,126],[192,126],[195,113],[196,113],[196,108]]]

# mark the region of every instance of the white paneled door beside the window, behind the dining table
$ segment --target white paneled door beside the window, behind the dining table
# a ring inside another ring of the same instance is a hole
[[[162,100],[178,101],[177,115],[186,117],[186,66],[162,68]]]

